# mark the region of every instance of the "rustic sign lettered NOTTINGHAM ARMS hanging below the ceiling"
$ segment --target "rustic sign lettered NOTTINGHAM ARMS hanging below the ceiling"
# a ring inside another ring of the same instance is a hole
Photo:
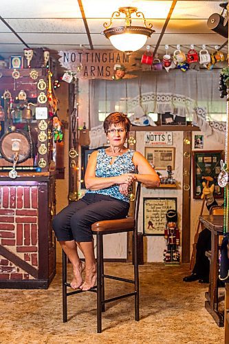
[[[139,70],[140,53],[131,55],[118,50],[65,50],[60,51],[59,62],[65,69],[76,72],[77,78],[112,79],[116,65],[124,67],[125,72]],[[123,78],[135,75],[125,74]]]

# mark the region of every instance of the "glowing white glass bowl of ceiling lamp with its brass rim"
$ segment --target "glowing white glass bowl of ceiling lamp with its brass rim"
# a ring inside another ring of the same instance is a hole
[[[140,26],[120,26],[118,28],[109,28],[103,33],[117,50],[135,52],[143,47],[153,32],[155,31]]]

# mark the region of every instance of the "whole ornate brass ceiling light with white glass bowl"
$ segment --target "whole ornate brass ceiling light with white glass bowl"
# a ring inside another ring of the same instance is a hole
[[[111,28],[114,17],[120,17],[120,14],[125,14],[125,25]],[[143,19],[144,26],[131,26],[131,14],[135,13],[136,17]],[[139,50],[146,43],[148,37],[155,32],[151,30],[152,24],[149,23],[146,26],[146,19],[142,12],[138,12],[138,8],[135,7],[120,7],[118,11],[113,12],[110,22],[103,24],[104,34],[107,39],[111,41],[111,44],[118,50],[130,54]]]

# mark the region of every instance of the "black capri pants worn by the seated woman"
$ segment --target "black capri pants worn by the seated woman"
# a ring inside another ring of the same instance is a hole
[[[93,240],[91,224],[127,216],[129,203],[107,195],[86,193],[58,213],[52,222],[57,241],[89,242]]]

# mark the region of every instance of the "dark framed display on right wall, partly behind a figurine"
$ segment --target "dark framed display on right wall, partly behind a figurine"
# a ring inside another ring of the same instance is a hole
[[[223,189],[218,184],[221,159],[223,159],[223,151],[193,152],[193,198],[201,198],[203,182],[208,182],[209,186],[215,185],[213,194],[215,198],[223,197]]]

